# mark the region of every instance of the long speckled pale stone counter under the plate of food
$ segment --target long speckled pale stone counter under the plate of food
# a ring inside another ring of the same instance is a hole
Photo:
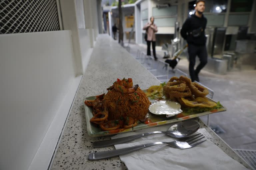
[[[113,150],[114,147],[93,148],[92,143],[98,140],[110,139],[110,136],[93,138],[86,128],[84,99],[106,93],[117,78],[131,77],[141,89],[160,83],[147,69],[134,59],[117,42],[108,35],[99,35],[93,49],[88,67],[78,88],[70,115],[67,118],[61,139],[52,160],[51,169],[127,169],[118,157],[90,161],[88,154],[96,151]],[[233,159],[248,165],[200,119],[199,132],[218,145]]]

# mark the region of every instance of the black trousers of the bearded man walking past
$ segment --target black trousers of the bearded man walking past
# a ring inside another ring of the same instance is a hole
[[[200,70],[207,64],[207,50],[205,45],[188,44],[189,54],[189,74],[192,81],[196,80]],[[194,69],[196,63],[196,56],[199,57],[200,63]]]

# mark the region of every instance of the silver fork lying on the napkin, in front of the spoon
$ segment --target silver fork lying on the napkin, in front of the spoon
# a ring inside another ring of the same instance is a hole
[[[151,146],[160,145],[160,144],[164,144],[164,145],[168,145],[168,146],[180,148],[180,149],[187,149],[187,148],[195,147],[195,146],[205,142],[206,140],[197,142],[204,138],[204,136],[203,137],[201,137],[201,136],[203,136],[203,135],[201,133],[198,133],[198,134],[186,137],[186,138],[174,140],[172,142],[154,142],[154,143],[146,143],[146,144],[142,144],[142,145],[126,147],[126,148],[116,149],[116,150],[109,150],[109,151],[103,151],[103,152],[92,152],[89,154],[88,159],[89,160],[99,160],[99,159],[112,158],[115,156],[124,155],[127,153],[131,153],[133,151],[136,151],[136,150],[140,150],[140,149],[143,149],[146,147],[151,147]],[[195,140],[195,139],[197,139],[197,140]]]

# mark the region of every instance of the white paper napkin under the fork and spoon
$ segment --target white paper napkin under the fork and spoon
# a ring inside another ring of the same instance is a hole
[[[142,129],[133,132],[120,133],[113,136],[112,139],[150,131],[166,131],[169,127],[171,127],[171,125],[173,124]],[[124,147],[136,146],[145,143],[152,143],[157,141],[170,142],[173,140],[175,139],[172,137],[168,137],[167,135],[164,134],[153,134],[133,140],[131,142],[117,144],[115,145],[115,148],[120,149]],[[167,145],[156,145],[129,154],[120,155],[120,159],[125,163],[129,170],[247,169],[242,164],[238,163],[237,161],[229,157],[210,140],[207,140],[202,144],[189,149],[177,149]]]

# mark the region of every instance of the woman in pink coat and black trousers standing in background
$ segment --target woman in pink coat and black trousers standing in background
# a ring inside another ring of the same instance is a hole
[[[146,30],[146,34],[147,34],[147,55],[151,55],[150,53],[150,42],[152,42],[152,48],[153,48],[153,55],[155,60],[157,60],[156,57],[156,32],[157,30],[157,26],[154,24],[154,17],[150,17],[150,23],[147,23],[144,27],[143,30]]]

